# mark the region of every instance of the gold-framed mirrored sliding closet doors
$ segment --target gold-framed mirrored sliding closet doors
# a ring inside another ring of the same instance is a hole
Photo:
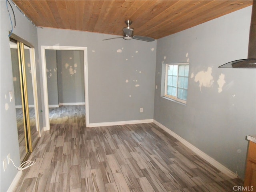
[[[16,106],[17,131],[20,149],[20,162],[33,150],[38,140],[36,102],[32,81],[31,48],[10,38],[14,100]]]

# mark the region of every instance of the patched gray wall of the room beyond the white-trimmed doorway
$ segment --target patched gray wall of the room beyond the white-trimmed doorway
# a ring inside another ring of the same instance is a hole
[[[48,104],[84,103],[84,52],[45,50]]]

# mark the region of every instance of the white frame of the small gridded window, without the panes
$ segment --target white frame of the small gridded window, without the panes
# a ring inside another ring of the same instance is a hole
[[[177,65],[177,66],[178,66],[176,96],[172,96],[172,95],[168,95],[168,94],[167,94],[167,87],[168,87],[168,66],[169,66],[169,65]],[[181,103],[183,103],[183,104],[186,104],[186,103],[187,103],[186,100],[182,100],[182,99],[177,98],[177,95],[178,95],[179,65],[189,65],[189,63],[169,63],[169,64],[165,64],[164,97],[170,98],[171,100],[175,100],[175,101],[181,102]],[[187,89],[187,90],[188,90],[188,89]]]

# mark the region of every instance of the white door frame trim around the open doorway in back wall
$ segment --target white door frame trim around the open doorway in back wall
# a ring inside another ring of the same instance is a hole
[[[89,94],[88,94],[87,47],[74,47],[74,46],[41,46],[42,78],[43,78],[43,92],[44,92],[44,117],[45,117],[45,124],[46,124],[45,127],[44,127],[44,130],[45,130],[45,131],[50,130],[45,50],[79,50],[79,51],[84,51],[85,124],[86,124],[86,127],[89,127]]]

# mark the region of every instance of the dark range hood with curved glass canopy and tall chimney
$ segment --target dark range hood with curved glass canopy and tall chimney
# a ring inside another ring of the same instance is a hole
[[[228,62],[219,68],[256,68],[256,0],[252,1],[252,17],[249,34],[248,59]]]

